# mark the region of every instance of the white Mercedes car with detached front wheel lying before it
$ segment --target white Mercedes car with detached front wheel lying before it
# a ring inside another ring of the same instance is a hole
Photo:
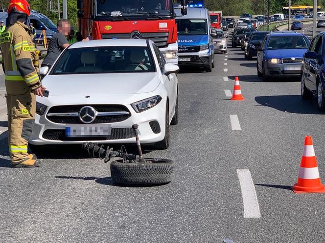
[[[38,97],[32,145],[135,143],[169,146],[178,122],[179,67],[153,41],[77,42],[41,68],[48,97]]]

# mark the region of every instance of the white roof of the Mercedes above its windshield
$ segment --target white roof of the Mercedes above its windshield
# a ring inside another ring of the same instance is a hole
[[[69,46],[73,48],[103,47],[103,46],[147,46],[147,40],[143,39],[106,39],[95,41],[79,41]]]

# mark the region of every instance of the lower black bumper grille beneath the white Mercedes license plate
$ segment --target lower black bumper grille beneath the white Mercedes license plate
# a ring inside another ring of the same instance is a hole
[[[42,136],[46,140],[52,141],[103,141],[103,140],[120,140],[135,138],[133,128],[112,128],[111,135],[107,138],[103,137],[87,137],[87,138],[68,138],[66,130],[63,129],[48,129],[45,130]]]

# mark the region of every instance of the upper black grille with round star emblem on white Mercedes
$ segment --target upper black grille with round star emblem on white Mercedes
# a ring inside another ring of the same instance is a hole
[[[97,112],[124,112],[126,114],[114,114],[114,115],[107,115],[107,116],[97,116],[91,124],[98,124],[98,123],[114,123],[125,121],[131,116],[130,111],[124,105],[118,104],[91,104],[91,105],[62,105],[62,106],[53,106],[49,109],[46,114],[46,118],[49,121],[59,124],[84,124],[84,122],[80,121],[79,116],[50,116],[49,114],[72,114],[78,113],[80,109],[84,106],[91,106]]]

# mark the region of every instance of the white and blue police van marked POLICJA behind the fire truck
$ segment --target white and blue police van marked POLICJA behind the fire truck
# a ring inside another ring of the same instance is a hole
[[[178,65],[204,67],[207,72],[211,72],[214,67],[214,45],[208,9],[202,5],[187,7],[187,15],[182,16],[181,9],[176,8],[175,13]]]

